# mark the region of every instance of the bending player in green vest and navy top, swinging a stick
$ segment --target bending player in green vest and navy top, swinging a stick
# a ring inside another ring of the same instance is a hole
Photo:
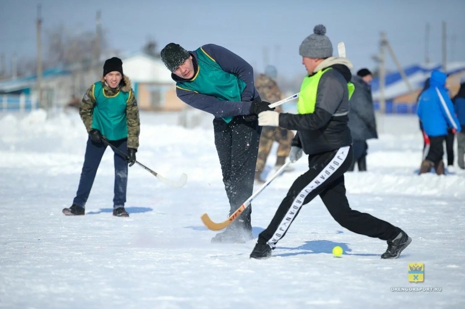
[[[213,114],[215,146],[232,214],[252,195],[261,127],[259,112],[272,110],[253,85],[252,66],[222,46],[207,44],[188,52],[170,43],[161,59],[186,104]],[[245,243],[252,239],[248,207],[212,243]]]

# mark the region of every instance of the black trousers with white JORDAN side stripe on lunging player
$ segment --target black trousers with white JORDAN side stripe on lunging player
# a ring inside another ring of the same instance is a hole
[[[344,173],[352,163],[352,146],[308,156],[309,170],[300,175],[279,205],[270,225],[260,233],[259,242],[274,248],[299,214],[301,207],[317,195],[331,216],[354,233],[388,240],[396,237],[400,229],[373,217],[352,210],[345,197]]]

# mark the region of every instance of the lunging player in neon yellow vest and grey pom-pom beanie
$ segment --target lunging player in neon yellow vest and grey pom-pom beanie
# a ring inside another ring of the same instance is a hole
[[[352,210],[345,197],[344,173],[352,164],[352,138],[348,123],[352,64],[332,57],[332,44],[323,25],[315,26],[299,47],[308,75],[300,88],[298,115],[267,111],[259,114],[259,125],[297,130],[289,158],[308,154],[309,170],[297,178],[279,205],[266,230],[260,233],[251,258],[268,258],[276,243],[300,211],[317,195],[331,216],[352,232],[386,240],[381,258],[397,258],[412,241],[398,227],[367,213]]]

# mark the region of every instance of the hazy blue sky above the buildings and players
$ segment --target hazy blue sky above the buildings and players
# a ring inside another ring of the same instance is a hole
[[[257,70],[268,62],[279,74],[304,73],[299,44],[324,24],[335,53],[345,42],[354,68],[374,68],[379,33],[385,31],[403,66],[425,59],[425,23],[431,25],[430,59],[441,61],[441,22],[447,22],[448,58],[465,60],[465,1],[444,0],[0,0],[0,53],[35,57],[35,18],[42,5],[43,29],[64,26],[68,31],[94,31],[95,12],[112,48],[134,52],[147,38],[160,48],[176,42],[193,50],[215,43],[229,48]],[[45,37],[45,36],[44,36]],[[455,40],[452,38],[455,37]],[[266,57],[265,57],[266,58]],[[388,67],[394,68],[388,61]]]

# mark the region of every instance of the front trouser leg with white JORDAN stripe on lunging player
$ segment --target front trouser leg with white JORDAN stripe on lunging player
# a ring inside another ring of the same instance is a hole
[[[309,171],[294,181],[270,225],[260,234],[259,241],[265,240],[274,248],[279,239],[286,234],[302,205],[310,202],[328,184],[344,174],[352,163],[352,158],[350,146],[309,156]]]

